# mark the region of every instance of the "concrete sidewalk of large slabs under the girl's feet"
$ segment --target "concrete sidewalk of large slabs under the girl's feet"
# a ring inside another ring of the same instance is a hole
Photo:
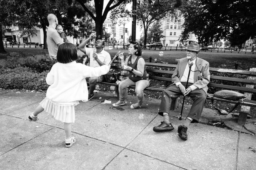
[[[99,92],[89,102],[76,106],[72,132],[77,141],[66,148],[63,123],[42,112],[39,121],[28,115],[44,93],[0,90],[0,169],[88,169],[88,170],[252,170],[256,169],[256,137],[229,129],[192,123],[188,140],[178,137],[180,108],[170,117],[174,130],[156,133],[162,117],[160,100],[145,99],[142,108],[111,109],[117,98]],[[104,104],[104,100],[112,104]],[[190,106],[184,106],[184,118]],[[212,116],[209,116],[212,115]],[[228,119],[204,109],[202,122]]]

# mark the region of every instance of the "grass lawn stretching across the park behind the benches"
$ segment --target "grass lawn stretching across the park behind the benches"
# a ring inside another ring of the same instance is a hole
[[[32,55],[45,55],[48,54],[47,49],[42,48],[5,48],[5,50],[10,52],[18,52],[23,53],[24,55],[32,56]],[[111,49],[106,50],[110,53],[111,57],[118,51],[124,51],[124,55],[128,55],[128,50],[125,49]],[[143,50],[142,57],[146,62],[149,62],[149,57],[152,57],[152,62],[154,59],[157,59],[157,62],[161,61],[168,64],[176,64],[176,59],[180,59],[186,57],[185,51],[159,51],[159,50]],[[161,53],[160,53],[161,52]],[[78,51],[78,54],[83,54],[81,51]],[[160,56],[162,55],[162,56]],[[0,59],[5,58],[6,55],[0,54]],[[243,53],[217,53],[217,52],[200,52],[198,57],[205,59],[210,63],[210,67],[215,68],[230,68],[235,69],[234,65],[238,62],[238,69],[240,70],[249,70],[250,68],[256,68],[256,54],[245,54]]]

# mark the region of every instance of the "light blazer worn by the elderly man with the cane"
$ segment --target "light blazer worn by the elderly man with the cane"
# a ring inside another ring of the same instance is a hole
[[[182,78],[184,70],[186,68],[186,64],[188,64],[187,58],[182,58],[178,61],[177,67],[172,74],[172,84],[180,82],[180,79]],[[194,82],[194,86],[198,87],[198,89],[203,89],[207,94],[207,84],[210,82],[209,63],[204,59],[200,59],[198,57],[196,59]]]

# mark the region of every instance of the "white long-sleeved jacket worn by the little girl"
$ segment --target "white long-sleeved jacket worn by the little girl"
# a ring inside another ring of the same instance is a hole
[[[46,97],[53,102],[65,103],[88,100],[88,89],[85,78],[98,77],[107,74],[108,65],[89,67],[73,61],[71,63],[55,63],[46,76],[46,83],[50,85]]]

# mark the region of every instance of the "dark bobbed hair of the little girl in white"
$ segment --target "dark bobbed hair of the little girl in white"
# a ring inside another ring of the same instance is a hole
[[[59,46],[57,52],[57,61],[59,63],[70,63],[78,59],[76,46],[72,43],[63,43]]]

